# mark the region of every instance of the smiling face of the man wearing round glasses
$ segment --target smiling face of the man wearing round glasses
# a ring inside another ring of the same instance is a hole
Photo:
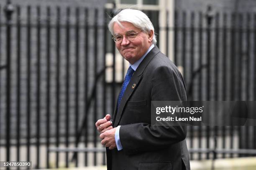
[[[120,27],[117,23],[114,23],[113,29],[115,35],[123,35],[123,41],[121,43],[115,43],[116,47],[120,54],[133,64],[137,60],[139,60],[143,54],[146,53],[148,48],[152,44],[153,39],[153,31],[149,34],[141,31],[139,28],[135,27],[133,24],[128,22],[121,22],[124,28]],[[132,41],[129,41],[125,34],[127,32],[139,32],[136,35],[136,38]]]

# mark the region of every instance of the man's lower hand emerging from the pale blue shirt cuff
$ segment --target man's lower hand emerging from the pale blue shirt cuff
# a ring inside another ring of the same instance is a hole
[[[115,143],[115,130],[116,128],[106,130],[104,133],[100,134],[100,138],[103,139],[101,141],[102,145],[105,145],[105,147],[108,147],[108,149],[114,149],[116,148]]]

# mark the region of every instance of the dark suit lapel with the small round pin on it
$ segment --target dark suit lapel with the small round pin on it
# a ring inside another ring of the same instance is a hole
[[[130,96],[132,95],[132,93],[136,90],[136,88],[139,85],[139,82],[141,80],[141,78],[143,77],[143,71],[145,70],[146,66],[148,65],[148,63],[154,58],[154,56],[156,54],[158,54],[160,52],[160,50],[158,49],[158,47],[155,47],[148,53],[148,55],[143,59],[143,61],[141,62],[141,64],[138,66],[137,70],[133,73],[133,76],[129,82],[129,84],[126,87],[126,90],[123,94],[122,100],[120,102],[119,105],[119,109],[117,110],[117,106],[115,106],[115,112],[114,112],[114,116],[113,116],[113,120],[114,120],[114,127],[117,127],[120,119],[122,117],[123,114],[123,109],[126,105],[126,102],[128,101],[128,99],[130,98]],[[135,85],[135,87],[133,88],[133,85]]]

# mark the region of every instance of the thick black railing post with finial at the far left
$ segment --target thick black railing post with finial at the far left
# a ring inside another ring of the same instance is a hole
[[[6,1],[5,5],[5,17],[6,17],[6,161],[10,161],[10,68],[11,68],[11,19],[14,11],[14,7],[10,0]]]

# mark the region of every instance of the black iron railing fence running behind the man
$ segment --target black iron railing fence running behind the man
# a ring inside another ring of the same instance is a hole
[[[80,152],[83,165],[105,165],[95,121],[112,115],[123,80],[117,77],[125,73],[107,29],[112,11],[24,8],[10,1],[4,9],[0,147],[5,160],[23,160],[25,154],[34,168],[63,162],[69,167],[72,160],[79,165]],[[158,18],[157,11],[144,12]],[[174,34],[174,62],[183,68],[189,100],[256,100],[256,14],[213,13],[209,7],[206,13],[175,11],[174,28],[159,28],[158,20],[154,25],[158,35]],[[158,43],[166,44],[167,54],[168,38]],[[192,126],[187,140],[191,159],[255,155],[256,128]]]

